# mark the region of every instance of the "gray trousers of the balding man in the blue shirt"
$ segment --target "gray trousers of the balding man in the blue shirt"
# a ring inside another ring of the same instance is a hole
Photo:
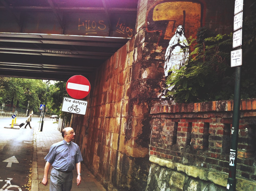
[[[50,191],[70,191],[73,173],[65,173],[52,168],[50,176]]]

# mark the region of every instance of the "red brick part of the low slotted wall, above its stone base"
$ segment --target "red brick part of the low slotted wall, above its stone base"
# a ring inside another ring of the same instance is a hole
[[[151,157],[227,175],[232,108],[232,100],[154,105]],[[248,185],[256,185],[255,130],[256,99],[241,100],[237,177],[249,181]]]

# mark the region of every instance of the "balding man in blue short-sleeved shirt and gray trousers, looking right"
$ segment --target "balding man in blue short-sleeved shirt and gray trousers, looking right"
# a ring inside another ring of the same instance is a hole
[[[46,155],[43,185],[48,184],[48,173],[52,165],[50,176],[50,191],[70,191],[75,166],[77,169],[77,185],[81,183],[81,161],[82,155],[79,146],[72,142],[75,132],[71,127],[62,130],[63,140],[52,144],[49,153]]]

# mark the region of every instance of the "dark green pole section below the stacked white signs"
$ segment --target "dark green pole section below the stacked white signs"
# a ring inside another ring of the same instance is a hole
[[[240,77],[241,66],[237,66],[234,87],[233,121],[229,155],[229,176],[227,184],[227,190],[231,191],[236,191],[237,145],[240,118]]]

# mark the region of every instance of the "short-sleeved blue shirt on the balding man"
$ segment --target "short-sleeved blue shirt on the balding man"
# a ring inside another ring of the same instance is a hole
[[[65,140],[52,144],[44,159],[60,171],[72,171],[76,163],[83,161],[79,146],[72,141],[68,144]]]

